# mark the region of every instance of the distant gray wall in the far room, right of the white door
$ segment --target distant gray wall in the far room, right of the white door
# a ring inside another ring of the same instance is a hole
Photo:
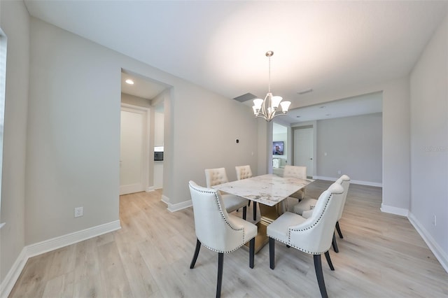
[[[381,113],[319,120],[316,125],[317,176],[382,182]],[[326,153],[326,155],[325,155]]]

